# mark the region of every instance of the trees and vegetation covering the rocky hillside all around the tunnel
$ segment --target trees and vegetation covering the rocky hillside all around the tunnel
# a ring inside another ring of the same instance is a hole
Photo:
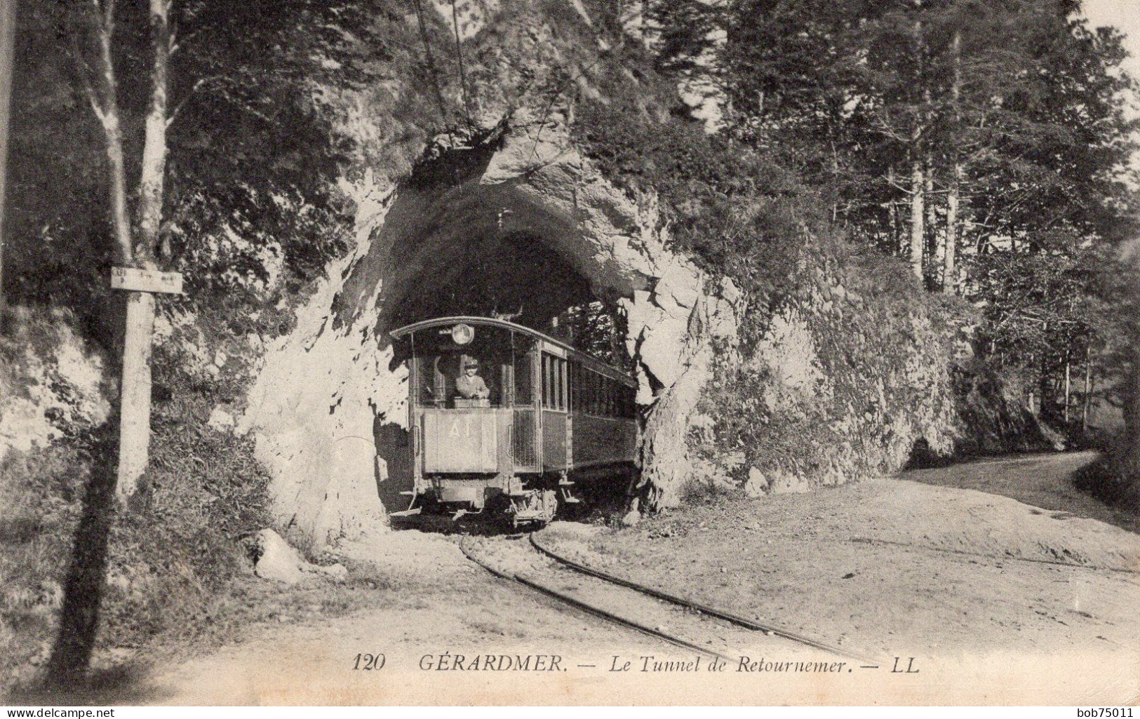
[[[21,309],[0,337],[0,433],[33,418],[55,443],[0,458],[15,498],[0,667],[42,665],[70,581],[101,587],[101,647],[223,621],[245,590],[242,539],[271,523],[268,471],[231,432],[264,348],[373,239],[363,191],[413,177],[425,147],[458,156],[516,119],[568,130],[659,213],[652,229],[706,287],[739,289],[738,342],[717,348],[685,438],[701,479],[799,491],[898,469],[917,447],[1039,448],[1070,407],[1062,377],[1084,370],[1129,419],[1109,479],[1089,487],[1134,503],[1140,313],[1104,281],[1133,228],[1119,170],[1132,81],[1119,35],[1076,19],[1078,5],[991,3],[967,22],[967,0],[513,0],[462,18],[418,0],[174,2],[187,44],[144,254],[189,292],[158,301],[150,468],[121,508],[85,493],[114,459],[114,415],[103,423],[122,325],[103,138],[67,34],[78,6],[30,6],[18,55],[42,62],[16,77],[5,291]],[[120,7],[135,169],[149,26]],[[678,85],[705,91],[707,123]],[[440,156],[422,166],[456,182]],[[84,528],[106,551],[74,579]]]

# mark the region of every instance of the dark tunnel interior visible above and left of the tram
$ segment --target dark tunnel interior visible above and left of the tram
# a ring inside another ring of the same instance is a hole
[[[348,277],[341,317],[359,314],[370,300],[381,349],[389,332],[423,320],[506,319],[633,373],[620,299],[636,280],[614,281],[620,275],[581,243],[572,218],[518,188],[479,181],[486,165],[454,155],[427,163],[402,189]],[[466,179],[456,177],[461,170]],[[373,283],[374,300],[366,294]],[[405,358],[393,354],[388,369],[407,371]],[[414,484],[406,411],[377,411],[373,423],[376,489],[389,513],[407,508]]]

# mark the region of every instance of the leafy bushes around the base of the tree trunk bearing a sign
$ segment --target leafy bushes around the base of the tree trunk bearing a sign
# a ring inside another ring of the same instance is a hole
[[[84,513],[111,525],[91,575],[106,578],[101,591],[90,588],[101,595],[97,647],[210,636],[244,591],[234,581],[252,570],[242,539],[269,524],[268,474],[251,440],[206,426],[219,393],[231,391],[225,381],[163,363],[155,376],[168,394],[154,403],[150,468],[128,508],[104,509],[88,496],[95,471],[113,467],[106,426],[0,465],[0,492],[10,498],[0,517],[0,691],[31,680],[50,654],[76,542],[90,551],[96,541],[88,534],[99,522],[81,524]]]

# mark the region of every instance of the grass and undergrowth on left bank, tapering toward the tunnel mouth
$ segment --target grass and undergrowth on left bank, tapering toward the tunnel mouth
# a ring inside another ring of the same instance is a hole
[[[156,397],[150,468],[129,506],[96,507],[91,521],[89,485],[107,476],[97,469],[114,466],[113,452],[100,449],[114,444],[108,427],[0,464],[0,694],[42,679],[76,550],[87,557],[79,564],[93,570],[78,586],[98,597],[91,686],[117,681],[107,672],[127,657],[239,640],[259,623],[334,616],[398,589],[372,565],[349,561],[343,581],[286,588],[256,578],[250,537],[272,526],[269,476],[252,440],[206,425],[219,392],[233,387],[177,373],[156,379],[168,391]],[[109,528],[104,553],[92,528]]]

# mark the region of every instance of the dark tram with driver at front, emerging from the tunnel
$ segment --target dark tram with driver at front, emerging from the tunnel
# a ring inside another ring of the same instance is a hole
[[[576,484],[634,471],[628,374],[500,319],[443,317],[392,337],[409,368],[413,506],[542,523],[578,501]]]

